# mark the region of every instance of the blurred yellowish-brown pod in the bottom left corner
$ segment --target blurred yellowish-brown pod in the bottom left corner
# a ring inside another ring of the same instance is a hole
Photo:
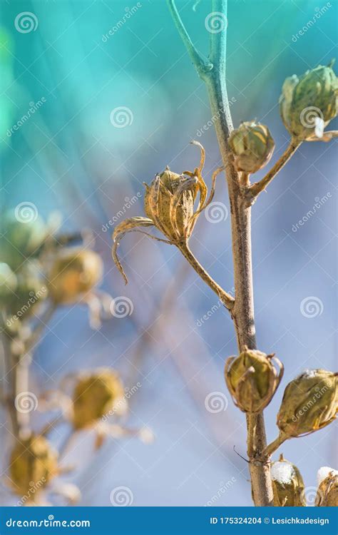
[[[11,452],[10,476],[14,492],[26,494],[43,489],[58,474],[58,454],[51,444],[39,435],[17,442]]]

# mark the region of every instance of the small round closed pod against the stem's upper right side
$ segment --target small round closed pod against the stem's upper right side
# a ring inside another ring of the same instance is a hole
[[[275,148],[267,126],[255,121],[241,123],[232,131],[229,145],[237,171],[256,173],[270,160]]]

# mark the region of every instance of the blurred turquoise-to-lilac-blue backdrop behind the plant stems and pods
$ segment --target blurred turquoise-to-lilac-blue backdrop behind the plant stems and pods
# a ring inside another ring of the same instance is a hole
[[[200,1],[195,10],[194,1],[177,4],[196,46],[208,54],[210,2]],[[233,121],[267,123],[276,142],[273,163],[288,141],[277,104],[282,82],[335,56],[337,2],[229,4]],[[127,388],[141,385],[130,397],[128,424],[147,425],[156,436],[151,445],[111,439],[94,454],[93,437],[83,433],[66,459],[76,471],[65,479],[80,487],[80,505],[111,504],[117,486],[131,489],[135,506],[252,504],[247,462],[238,455],[245,457],[245,418],[222,377],[225,358],[236,352],[229,315],[173,247],[128,235],[120,247],[126,287],[111,260],[113,226],[143,215],[143,181],[165,165],[177,172],[193,168],[199,156],[189,145],[193,138],[207,151],[207,182],[220,163],[215,131],[203,129],[210,121],[205,87],[165,2],[12,0],[0,9],[1,210],[31,202],[45,219],[61,212],[66,231],[92,229],[105,262],[103,288],[133,305],[130,315],[111,317],[96,331],[84,308],[59,310],[36,351],[31,389],[39,394],[55,387],[74,370],[114,367]],[[17,31],[14,21],[23,11],[35,14],[35,31]],[[127,109],[116,116],[121,106]],[[271,440],[287,382],[304,368],[334,369],[337,362],[336,155],[334,143],[304,144],[252,210],[257,341],[285,365],[285,379],[266,410]],[[324,195],[316,213],[292,230]],[[230,290],[222,179],[215,200],[220,204],[209,221],[200,217],[191,248]],[[206,408],[212,392],[221,393],[224,410]],[[6,414],[2,418],[6,437]],[[36,424],[39,418],[36,412]],[[66,432],[66,424],[54,430],[56,446]],[[335,433],[331,425],[281,449],[301,470],[309,494],[317,469],[336,464]],[[13,500],[3,492],[1,501]]]

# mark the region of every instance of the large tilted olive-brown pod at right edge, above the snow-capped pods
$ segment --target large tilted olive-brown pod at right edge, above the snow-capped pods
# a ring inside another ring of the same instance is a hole
[[[277,425],[287,437],[299,437],[332,422],[338,409],[338,377],[327,370],[306,370],[287,384]]]

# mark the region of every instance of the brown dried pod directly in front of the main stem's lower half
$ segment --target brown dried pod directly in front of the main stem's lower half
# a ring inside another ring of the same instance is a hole
[[[227,387],[235,404],[243,412],[262,411],[275,394],[282,374],[280,360],[257,350],[245,350],[225,363]]]

